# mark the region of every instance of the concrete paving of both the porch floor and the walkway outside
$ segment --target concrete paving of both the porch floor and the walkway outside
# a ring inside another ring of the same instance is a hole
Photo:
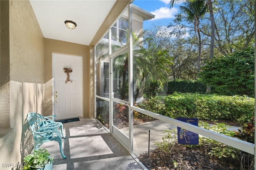
[[[130,156],[129,152],[95,119],[81,119],[77,122],[64,123],[62,139],[63,159],[58,142],[44,143],[51,156],[54,156],[54,170],[138,170],[146,169]],[[161,132],[176,126],[156,120],[134,126],[134,154],[139,156],[148,151],[148,130],[150,130],[150,150],[156,148],[155,141],[162,141]],[[237,130],[239,127],[229,127]],[[129,128],[120,129],[128,133]]]

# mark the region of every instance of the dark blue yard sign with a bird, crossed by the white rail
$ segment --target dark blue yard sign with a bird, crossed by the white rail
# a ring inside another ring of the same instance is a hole
[[[177,120],[198,126],[198,119],[196,118],[177,118]],[[198,144],[198,134],[184,128],[177,128],[179,144]]]

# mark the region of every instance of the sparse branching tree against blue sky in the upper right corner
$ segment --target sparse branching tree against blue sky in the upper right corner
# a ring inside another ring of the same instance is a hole
[[[215,6],[215,48],[227,55],[251,47],[255,30],[253,1],[219,0]],[[210,37],[208,22],[201,31]]]

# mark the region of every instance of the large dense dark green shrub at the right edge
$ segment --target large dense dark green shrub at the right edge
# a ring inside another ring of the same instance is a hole
[[[206,61],[199,77],[205,85],[214,87],[214,93],[254,97],[254,49]]]

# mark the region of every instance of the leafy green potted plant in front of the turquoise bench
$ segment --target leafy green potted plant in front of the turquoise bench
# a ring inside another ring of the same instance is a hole
[[[39,148],[32,152],[25,156],[22,170],[52,170],[53,156],[49,157],[48,150]]]

